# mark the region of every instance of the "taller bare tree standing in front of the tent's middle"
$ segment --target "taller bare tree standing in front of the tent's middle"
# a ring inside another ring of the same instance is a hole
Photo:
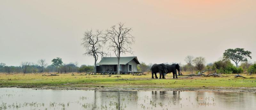
[[[120,54],[133,53],[130,45],[134,43],[134,37],[130,34],[132,28],[125,28],[123,23],[118,23],[110,29],[107,29],[106,41],[110,41],[108,50],[114,51],[117,57],[117,74],[120,74]]]

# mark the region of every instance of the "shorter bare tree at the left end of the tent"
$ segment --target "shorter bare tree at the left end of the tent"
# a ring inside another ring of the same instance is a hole
[[[82,39],[82,45],[86,49],[84,55],[93,56],[94,58],[94,74],[96,74],[96,62],[101,56],[106,56],[107,53],[103,52],[104,38],[101,31],[97,30],[95,34],[93,34],[92,30],[85,31],[84,37]]]

